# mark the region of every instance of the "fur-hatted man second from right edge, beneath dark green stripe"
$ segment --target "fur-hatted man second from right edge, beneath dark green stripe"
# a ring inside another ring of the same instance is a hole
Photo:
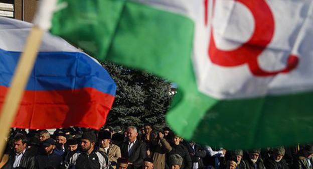
[[[282,158],[284,155],[284,147],[273,148],[273,154],[264,161],[266,169],[289,169],[286,161]]]

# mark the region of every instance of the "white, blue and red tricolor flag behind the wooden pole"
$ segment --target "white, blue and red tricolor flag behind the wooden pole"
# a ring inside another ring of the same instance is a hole
[[[0,17],[0,106],[32,26]],[[113,79],[95,59],[46,33],[12,127],[99,129],[115,91]]]

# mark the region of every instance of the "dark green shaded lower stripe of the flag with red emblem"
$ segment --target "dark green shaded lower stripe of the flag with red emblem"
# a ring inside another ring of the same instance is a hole
[[[226,148],[255,148],[313,140],[313,92],[219,101],[202,119],[194,139]]]

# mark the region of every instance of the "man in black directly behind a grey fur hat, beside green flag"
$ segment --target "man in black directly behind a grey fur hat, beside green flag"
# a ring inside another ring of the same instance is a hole
[[[166,154],[167,162],[166,162],[165,168],[169,168],[171,166],[170,161],[169,161],[169,157],[172,154],[178,154],[183,158],[183,163],[182,163],[182,166],[180,168],[181,169],[191,169],[192,168],[191,158],[190,158],[189,152],[187,150],[187,147],[184,146],[183,144],[181,144],[182,138],[180,138],[179,136],[177,136],[173,132],[169,133],[169,137],[172,138],[172,142],[171,142],[172,150]]]

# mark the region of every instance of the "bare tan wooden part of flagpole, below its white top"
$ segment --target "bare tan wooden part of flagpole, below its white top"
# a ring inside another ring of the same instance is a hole
[[[24,52],[22,53],[15,75],[11,81],[11,87],[7,93],[2,111],[0,114],[0,158],[6,147],[6,138],[9,134],[13,120],[20,107],[24,89],[28,82],[30,73],[34,67],[37,53],[40,48],[44,31],[34,26],[27,38]]]

